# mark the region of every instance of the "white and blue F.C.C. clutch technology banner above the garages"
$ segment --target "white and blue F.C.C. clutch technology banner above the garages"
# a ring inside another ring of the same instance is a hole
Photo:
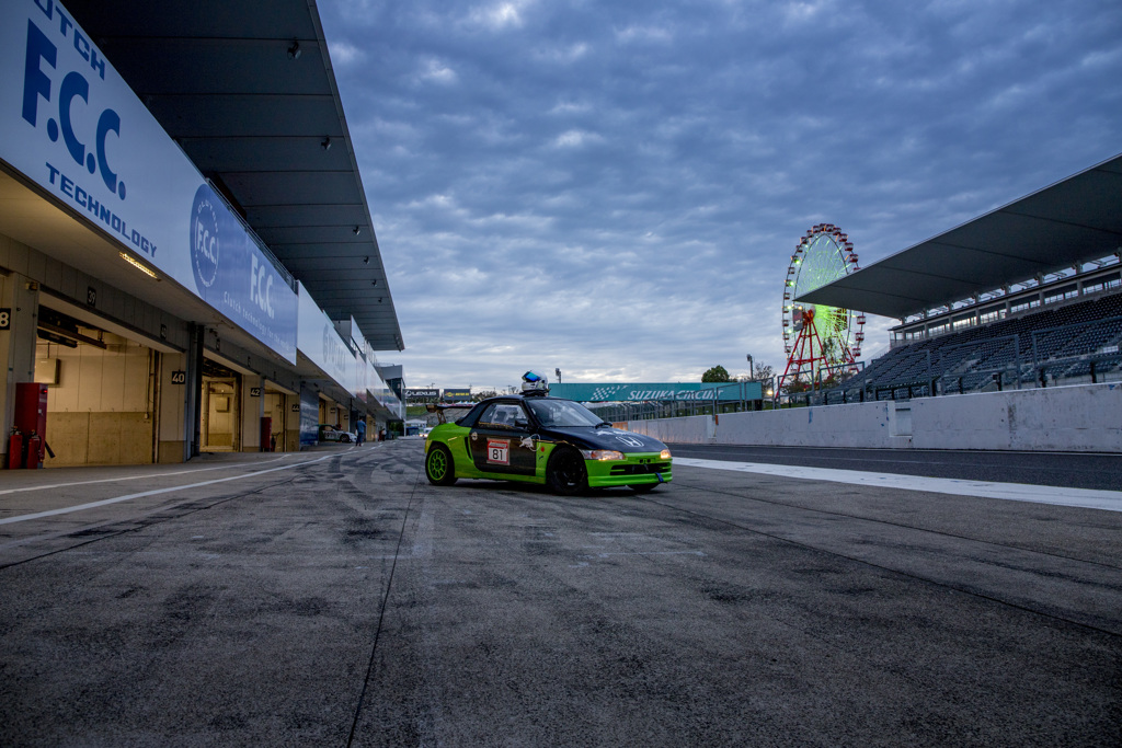
[[[296,362],[296,292],[55,0],[0,6],[0,159]]]

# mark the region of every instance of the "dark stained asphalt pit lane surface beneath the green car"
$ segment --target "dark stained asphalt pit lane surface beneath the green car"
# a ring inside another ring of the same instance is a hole
[[[420,468],[2,475],[0,745],[1122,744],[1122,511]]]

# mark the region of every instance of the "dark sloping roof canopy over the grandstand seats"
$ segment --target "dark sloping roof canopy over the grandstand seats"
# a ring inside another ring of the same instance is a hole
[[[903,320],[1120,248],[1122,156],[1115,156],[795,301]]]

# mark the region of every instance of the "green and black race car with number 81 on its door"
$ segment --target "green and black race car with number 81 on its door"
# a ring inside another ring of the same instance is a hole
[[[432,430],[424,471],[436,486],[459,478],[544,483],[573,496],[626,486],[649,491],[671,480],[670,450],[544,391],[493,397]]]

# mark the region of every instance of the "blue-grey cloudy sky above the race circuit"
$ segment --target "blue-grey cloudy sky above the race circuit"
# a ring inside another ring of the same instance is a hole
[[[782,370],[812,224],[866,266],[1122,151],[1116,0],[319,8],[413,387]]]

